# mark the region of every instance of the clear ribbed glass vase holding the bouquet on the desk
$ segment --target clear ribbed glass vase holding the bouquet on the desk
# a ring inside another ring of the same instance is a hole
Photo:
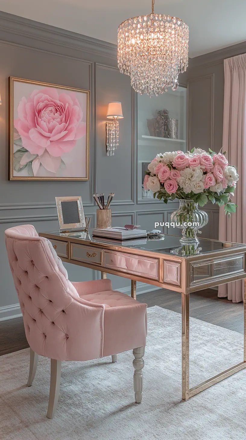
[[[179,208],[171,214],[171,222],[182,229],[181,243],[197,243],[199,240],[196,235],[207,224],[208,215],[193,200],[180,199]]]

